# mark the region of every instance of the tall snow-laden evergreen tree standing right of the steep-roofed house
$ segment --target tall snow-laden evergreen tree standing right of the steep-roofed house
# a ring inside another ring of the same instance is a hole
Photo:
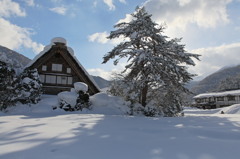
[[[125,41],[106,54],[103,63],[117,57],[114,61],[117,65],[120,59],[127,58],[123,81],[134,85],[128,87],[127,92],[135,92],[143,107],[152,101],[153,92],[159,96],[173,90],[188,91],[184,84],[194,75],[187,72],[186,66],[195,65],[192,58],[198,59],[199,55],[187,53],[185,46],[179,44],[181,39],[167,40],[168,37],[162,35],[164,27],[154,23],[144,7],[136,8],[132,21],[118,23],[115,28],[108,38],[124,37]],[[165,92],[160,91],[163,88]],[[174,105],[165,102],[164,107],[176,107],[178,97],[171,97]]]

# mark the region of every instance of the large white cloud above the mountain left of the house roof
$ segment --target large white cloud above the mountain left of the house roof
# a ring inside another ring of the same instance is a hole
[[[18,49],[23,46],[32,49],[35,53],[39,53],[43,49],[42,44],[32,41],[32,33],[29,29],[11,24],[3,18],[0,18],[0,35],[0,44],[10,49]]]

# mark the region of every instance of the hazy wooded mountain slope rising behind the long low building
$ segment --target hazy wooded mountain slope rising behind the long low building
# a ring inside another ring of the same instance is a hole
[[[216,90],[221,81],[226,80],[226,78],[229,77],[236,77],[237,75],[240,75],[240,65],[224,67],[207,76],[203,80],[195,83],[195,85],[192,85],[190,91],[192,91],[194,94],[212,92]]]

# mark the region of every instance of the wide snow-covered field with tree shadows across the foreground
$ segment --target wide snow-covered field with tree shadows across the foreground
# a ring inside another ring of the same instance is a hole
[[[0,159],[240,158],[239,105],[147,118],[120,115],[122,110],[109,105],[111,111],[100,114],[104,103],[91,114],[53,111],[56,102],[44,96],[30,108],[0,112]]]

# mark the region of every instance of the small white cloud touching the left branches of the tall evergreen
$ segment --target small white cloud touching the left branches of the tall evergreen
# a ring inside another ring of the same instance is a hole
[[[88,40],[90,42],[98,42],[101,44],[119,44],[120,42],[124,41],[125,39],[123,37],[119,37],[116,39],[108,39],[107,37],[109,36],[109,33],[105,32],[100,32],[100,33],[94,33],[92,35],[88,36]]]

